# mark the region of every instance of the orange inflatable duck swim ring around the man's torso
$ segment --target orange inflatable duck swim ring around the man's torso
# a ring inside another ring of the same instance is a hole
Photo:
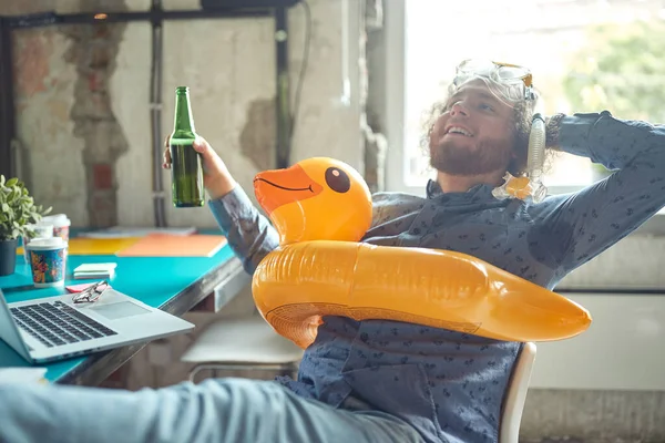
[[[300,348],[325,316],[412,322],[508,341],[562,340],[586,330],[581,306],[472,256],[359,243],[372,217],[349,165],[309,158],[254,179],[279,247],[252,281],[258,310]]]

